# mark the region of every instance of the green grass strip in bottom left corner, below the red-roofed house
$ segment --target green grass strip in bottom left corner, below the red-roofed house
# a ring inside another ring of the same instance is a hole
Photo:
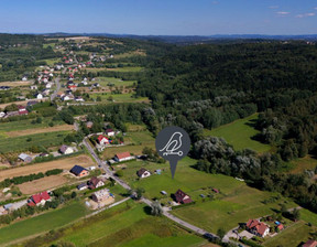
[[[0,228],[0,245],[66,225],[87,213],[81,203],[73,203],[22,222]]]

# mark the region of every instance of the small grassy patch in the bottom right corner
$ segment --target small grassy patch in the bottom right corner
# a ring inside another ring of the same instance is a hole
[[[305,222],[297,222],[296,224],[284,229],[277,236],[267,239],[263,246],[276,247],[276,246],[302,246],[307,241],[311,235],[316,232],[316,227],[309,227]]]

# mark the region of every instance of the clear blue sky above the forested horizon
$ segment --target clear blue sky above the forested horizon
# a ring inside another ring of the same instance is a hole
[[[317,0],[2,0],[1,33],[317,34]]]

